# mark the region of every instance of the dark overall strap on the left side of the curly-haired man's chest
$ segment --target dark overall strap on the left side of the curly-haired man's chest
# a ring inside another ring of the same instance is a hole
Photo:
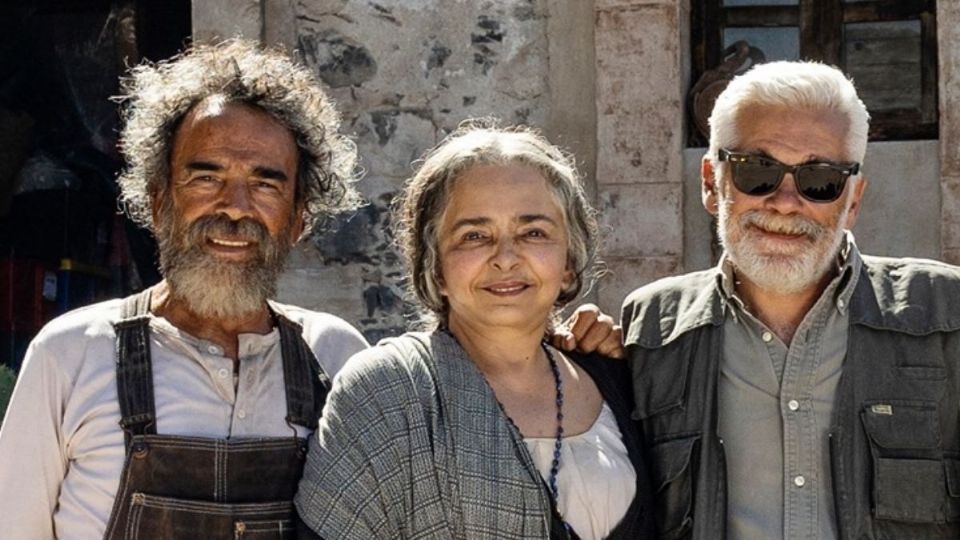
[[[117,335],[117,398],[120,427],[129,447],[133,435],[157,432],[150,361],[150,289],[123,299]]]

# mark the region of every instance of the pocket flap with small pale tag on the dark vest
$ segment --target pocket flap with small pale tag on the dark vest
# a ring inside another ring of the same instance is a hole
[[[887,449],[940,446],[940,414],[935,401],[870,401],[861,412],[873,442]]]

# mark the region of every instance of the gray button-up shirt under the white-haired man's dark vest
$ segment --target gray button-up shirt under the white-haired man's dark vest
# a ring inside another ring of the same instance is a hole
[[[850,295],[861,259],[849,238],[837,277],[788,346],[736,296],[724,258],[725,299],[718,389],[727,474],[727,535],[836,538],[828,432],[847,350]]]

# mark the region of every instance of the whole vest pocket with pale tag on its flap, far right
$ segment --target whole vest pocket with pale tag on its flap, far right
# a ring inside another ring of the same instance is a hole
[[[860,413],[873,462],[878,520],[945,523],[960,519],[960,462],[943,455],[934,401],[871,401]]]

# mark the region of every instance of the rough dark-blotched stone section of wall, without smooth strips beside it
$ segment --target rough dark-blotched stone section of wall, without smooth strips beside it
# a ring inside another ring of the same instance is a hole
[[[371,205],[317,236],[282,293],[357,324],[371,340],[404,318],[403,265],[388,206],[410,163],[464,118],[543,125],[547,111],[542,2],[299,2],[297,47],[331,89],[356,137]],[[316,277],[310,274],[318,274]],[[319,278],[319,279],[317,279]],[[331,294],[332,293],[332,294]]]

